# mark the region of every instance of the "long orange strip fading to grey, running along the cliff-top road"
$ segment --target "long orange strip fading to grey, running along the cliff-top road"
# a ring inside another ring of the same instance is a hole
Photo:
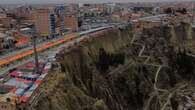
[[[53,47],[58,46],[60,44],[63,44],[63,43],[69,42],[71,40],[77,39],[78,37],[82,37],[83,35],[94,33],[94,32],[97,32],[97,31],[106,30],[106,29],[109,29],[109,28],[113,28],[113,26],[99,27],[99,28],[90,29],[90,30],[87,30],[87,31],[82,31],[82,32],[79,32],[79,33],[71,33],[71,34],[68,34],[66,36],[63,36],[63,38],[56,39],[56,40],[53,40],[53,41],[49,41],[47,43],[44,43],[42,45],[37,46],[37,51],[38,52],[45,51],[49,48],[53,48]],[[83,33],[83,34],[81,35],[80,33]],[[74,43],[79,43],[79,42],[74,41]],[[13,55],[7,55],[5,58],[0,59],[0,68],[2,68],[2,67],[4,68],[5,66],[9,66],[11,63],[16,62],[17,60],[21,60],[25,57],[33,55],[34,54],[33,49],[30,49],[30,50],[28,50],[28,49],[24,52],[14,53]]]

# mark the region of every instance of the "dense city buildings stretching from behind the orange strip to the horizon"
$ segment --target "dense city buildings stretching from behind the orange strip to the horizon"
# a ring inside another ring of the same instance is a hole
[[[192,11],[191,2],[185,3],[104,3],[64,5],[21,5],[0,7],[0,33],[12,37],[7,41],[0,35],[0,50],[5,47],[24,47],[34,34],[53,38],[68,31],[81,31],[105,26],[110,23],[128,23],[140,17],[164,13],[168,7],[186,8]],[[178,19],[178,18],[177,18]],[[4,40],[2,40],[4,39]],[[18,43],[17,43],[18,42]]]

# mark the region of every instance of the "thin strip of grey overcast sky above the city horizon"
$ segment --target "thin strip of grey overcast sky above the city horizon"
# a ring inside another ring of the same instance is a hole
[[[195,1],[195,0],[0,0],[0,4],[29,3],[102,3],[102,2],[154,2],[154,1]]]

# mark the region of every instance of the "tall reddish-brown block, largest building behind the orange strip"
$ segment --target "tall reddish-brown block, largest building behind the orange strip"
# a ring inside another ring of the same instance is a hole
[[[41,36],[55,34],[55,20],[55,14],[49,9],[37,9],[34,12],[35,28]]]

